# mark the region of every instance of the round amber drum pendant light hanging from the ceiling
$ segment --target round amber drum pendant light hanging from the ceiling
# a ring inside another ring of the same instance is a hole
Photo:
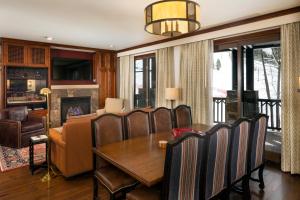
[[[200,6],[189,0],[164,0],[145,8],[145,30],[151,34],[178,36],[200,29]]]

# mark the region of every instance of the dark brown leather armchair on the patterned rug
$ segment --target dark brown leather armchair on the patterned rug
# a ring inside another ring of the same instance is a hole
[[[0,111],[0,145],[22,148],[29,145],[31,136],[45,133],[46,118],[28,115],[27,107]]]

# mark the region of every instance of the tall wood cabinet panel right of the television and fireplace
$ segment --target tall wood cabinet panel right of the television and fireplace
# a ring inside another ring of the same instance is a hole
[[[116,97],[116,54],[96,52],[94,57],[95,78],[99,84],[99,107],[105,106],[105,99]]]

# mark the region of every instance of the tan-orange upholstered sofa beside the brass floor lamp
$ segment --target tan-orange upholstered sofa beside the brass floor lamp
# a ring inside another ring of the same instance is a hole
[[[91,119],[96,114],[70,118],[63,127],[51,128],[51,162],[65,177],[91,171]]]

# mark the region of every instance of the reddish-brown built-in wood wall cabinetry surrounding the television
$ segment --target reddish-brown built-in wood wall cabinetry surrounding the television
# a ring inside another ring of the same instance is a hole
[[[93,81],[82,83],[74,81],[51,82],[52,47],[54,47],[53,49],[62,49],[62,51],[65,49],[77,52],[81,50],[94,52],[92,53],[94,54]],[[6,107],[5,69],[7,67],[48,68],[49,87],[55,84],[99,84],[99,107],[102,108],[107,97],[116,96],[116,64],[116,52],[114,51],[3,38],[0,43],[0,109]],[[39,114],[43,113],[44,110],[39,111]]]

